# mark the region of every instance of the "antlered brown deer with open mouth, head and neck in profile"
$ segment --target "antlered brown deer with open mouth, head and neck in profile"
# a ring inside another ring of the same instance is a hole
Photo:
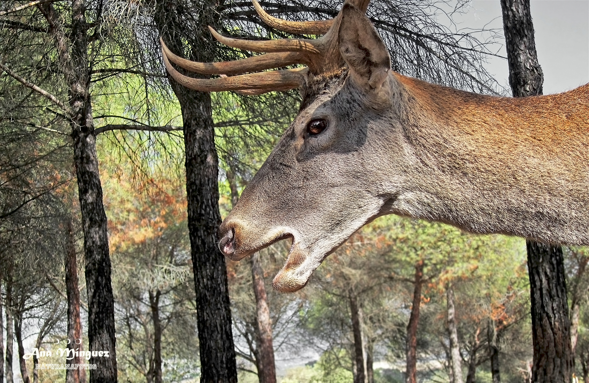
[[[353,233],[385,214],[469,233],[589,245],[589,84],[511,98],[469,93],[391,70],[388,50],[346,0],[336,18],[292,22],[253,0],[270,27],[318,39],[248,41],[263,54],[194,62],[161,41],[171,77],[198,91],[298,88],[299,114],[219,227],[232,260],[282,239],[292,246],[273,288],[294,292]],[[193,78],[171,63],[219,78]],[[288,65],[303,64],[286,70]]]

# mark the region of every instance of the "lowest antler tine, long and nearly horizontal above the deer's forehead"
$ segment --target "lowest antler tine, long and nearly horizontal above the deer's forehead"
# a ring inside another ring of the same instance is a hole
[[[187,88],[204,91],[219,92],[229,90],[286,90],[297,88],[303,80],[303,75],[308,70],[305,68],[295,68],[282,71],[270,71],[244,74],[224,78],[192,78],[178,72],[170,61],[166,52],[163,52],[164,64],[170,75],[179,84]]]

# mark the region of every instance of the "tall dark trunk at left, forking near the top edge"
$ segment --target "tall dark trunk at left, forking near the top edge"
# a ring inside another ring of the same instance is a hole
[[[85,276],[88,292],[88,349],[108,351],[108,358],[91,356],[90,383],[117,382],[114,298],[108,252],[107,217],[102,203],[98,173],[96,137],[90,102],[88,63],[88,25],[84,0],[71,3],[71,36],[67,36],[60,17],[50,2],[39,4],[57,42],[59,63],[70,87],[71,128],[78,197],[84,230]]]

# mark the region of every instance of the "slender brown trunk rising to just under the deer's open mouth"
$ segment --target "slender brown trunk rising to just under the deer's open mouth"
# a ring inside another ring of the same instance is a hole
[[[252,255],[252,282],[254,295],[256,296],[256,322],[259,344],[259,369],[260,383],[276,383],[276,365],[274,364],[274,346],[272,344],[272,319],[266,295],[264,283],[264,271],[260,262],[259,253]]]

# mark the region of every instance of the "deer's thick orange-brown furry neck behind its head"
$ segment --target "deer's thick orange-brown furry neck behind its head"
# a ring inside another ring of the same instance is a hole
[[[391,212],[589,243],[588,85],[517,99],[395,77],[405,183]]]

